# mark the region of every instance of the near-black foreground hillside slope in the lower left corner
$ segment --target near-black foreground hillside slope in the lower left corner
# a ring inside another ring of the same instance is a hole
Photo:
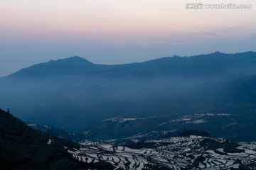
[[[68,150],[80,145],[33,130],[0,109],[0,169],[104,169],[108,164],[84,164]]]

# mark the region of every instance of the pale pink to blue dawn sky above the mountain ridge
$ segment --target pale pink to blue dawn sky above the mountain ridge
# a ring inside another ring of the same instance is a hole
[[[256,50],[255,0],[0,0],[0,77],[75,55],[122,64],[217,50]]]

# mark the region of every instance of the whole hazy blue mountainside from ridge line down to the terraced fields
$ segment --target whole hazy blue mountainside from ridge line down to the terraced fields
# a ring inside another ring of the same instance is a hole
[[[120,127],[118,121],[106,123],[102,121],[105,119],[228,113],[237,117],[217,116],[214,121],[201,120],[195,126],[220,125],[227,128],[208,131],[216,136],[226,132],[231,140],[238,141],[245,135],[246,140],[254,140],[255,136],[245,132],[255,124],[245,122],[256,121],[255,75],[256,52],[214,52],[117,65],[70,57],[36,64],[1,78],[0,103],[6,108],[11,106],[14,115],[24,121],[68,132],[90,131],[94,132],[92,137],[106,139],[125,138],[142,130],[146,133],[153,125],[139,121]],[[159,126],[161,123],[155,127],[176,130],[174,123],[166,123],[165,128]]]

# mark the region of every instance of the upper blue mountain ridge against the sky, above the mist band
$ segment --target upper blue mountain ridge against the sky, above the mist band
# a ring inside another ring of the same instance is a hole
[[[198,77],[216,74],[255,74],[256,52],[192,57],[165,57],[148,62],[103,65],[92,64],[82,57],[36,64],[11,74],[10,77],[46,77],[56,75],[83,75],[109,78]]]

